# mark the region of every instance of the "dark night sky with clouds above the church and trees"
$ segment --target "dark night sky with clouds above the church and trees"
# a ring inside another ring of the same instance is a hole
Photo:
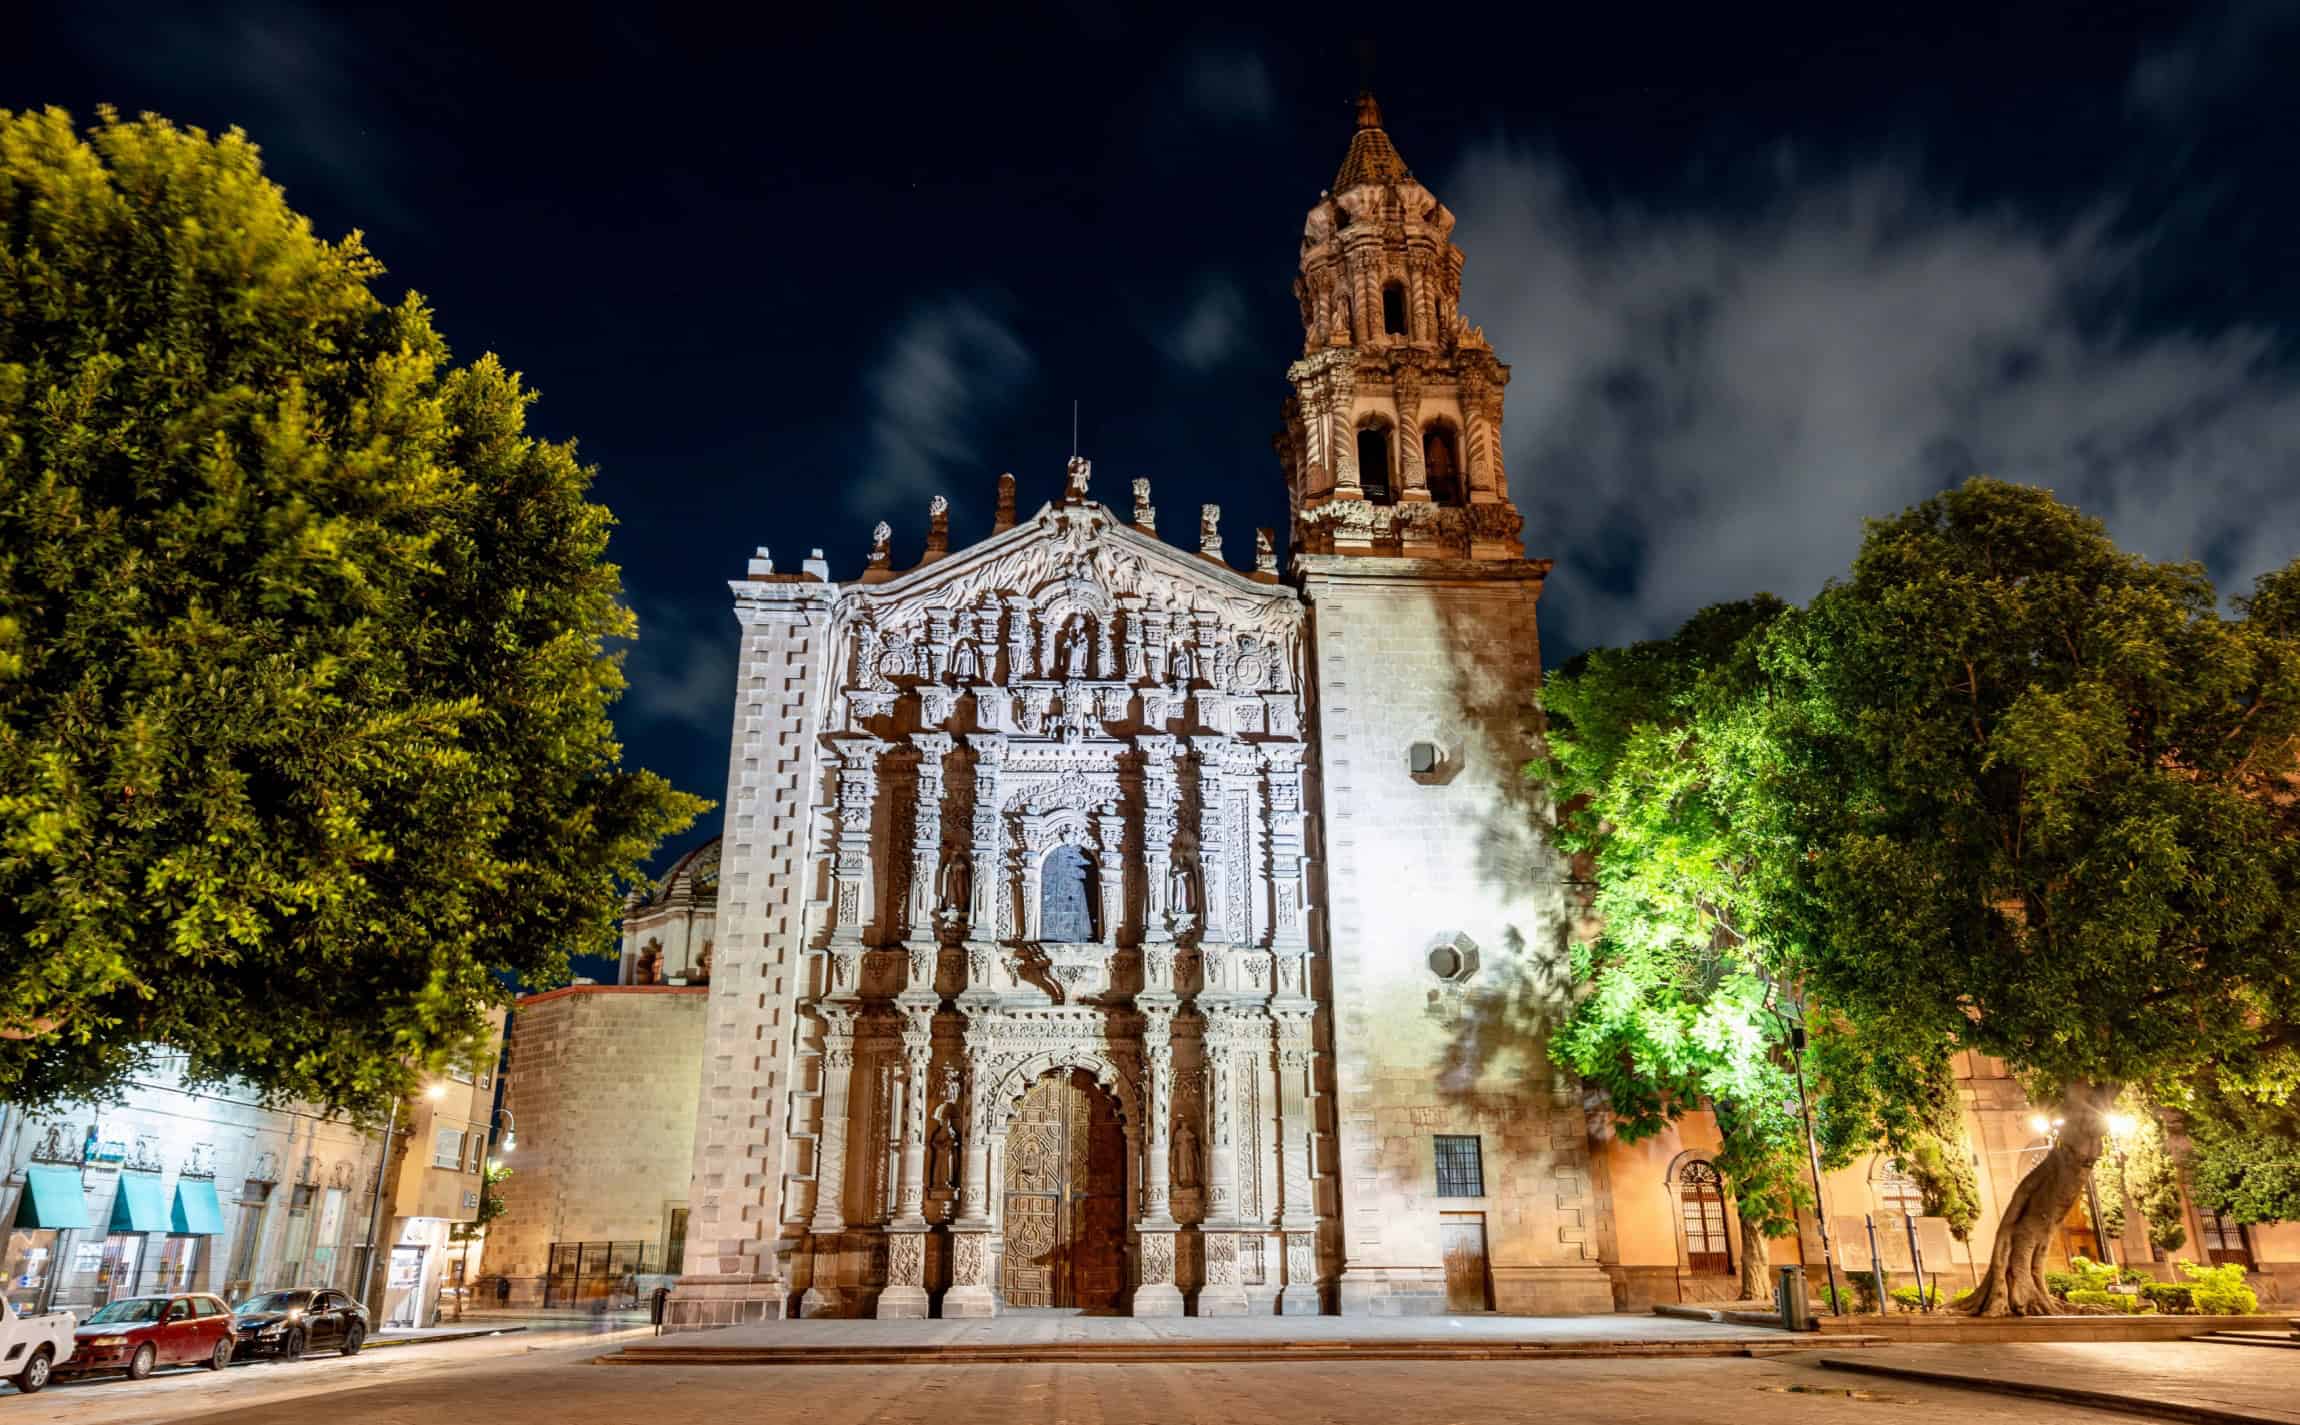
[[[628,756],[724,793],[754,545],[915,561],[1150,476],[1283,531],[1302,216],[1373,85],[1460,218],[1546,657],[1989,471],[2222,588],[2300,554],[2300,5],[16,9],[0,106],[246,129],[619,517]],[[837,18],[830,18],[837,11]],[[1426,25],[1426,30],[1424,30]],[[665,860],[715,830],[697,827]]]

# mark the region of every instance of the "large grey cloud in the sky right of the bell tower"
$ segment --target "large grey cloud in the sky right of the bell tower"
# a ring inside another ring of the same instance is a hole
[[[1969,473],[2058,490],[2224,588],[2300,552],[2272,333],[2098,319],[2148,232],[1969,209],[1904,168],[1776,170],[1732,216],[1598,202],[1493,145],[1451,175],[1465,310],[1516,365],[1509,457],[1566,646],[1805,598],[1861,519]],[[1621,559],[1635,549],[1635,559]]]

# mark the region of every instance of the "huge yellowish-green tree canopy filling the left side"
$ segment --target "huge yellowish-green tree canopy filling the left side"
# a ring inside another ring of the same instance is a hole
[[[621,768],[610,517],[239,133],[0,110],[0,1099],[373,1103],[702,809]]]

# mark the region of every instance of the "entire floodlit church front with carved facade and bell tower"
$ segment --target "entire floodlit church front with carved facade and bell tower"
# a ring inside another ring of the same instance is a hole
[[[674,1326],[1610,1310],[1536,1025],[1546,561],[1451,214],[1371,99],[1302,232],[1272,531],[1074,460],[743,625]]]

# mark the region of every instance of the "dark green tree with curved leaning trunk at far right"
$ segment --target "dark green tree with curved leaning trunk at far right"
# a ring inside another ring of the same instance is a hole
[[[2293,1023],[2295,579],[2224,618],[2201,568],[1971,480],[1769,632],[1773,935],[1863,1037],[1996,1055],[2063,1106],[1969,1310],[2054,1310],[2040,1266],[2125,1085]]]

